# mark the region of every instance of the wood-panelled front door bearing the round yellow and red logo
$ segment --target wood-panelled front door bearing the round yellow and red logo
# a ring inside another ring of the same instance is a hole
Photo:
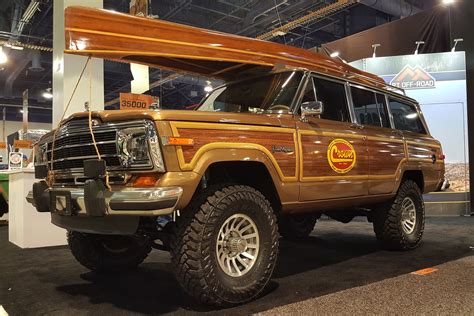
[[[302,102],[321,101],[321,118],[298,121],[300,200],[367,195],[368,155],[365,131],[352,123],[346,84],[310,77]]]

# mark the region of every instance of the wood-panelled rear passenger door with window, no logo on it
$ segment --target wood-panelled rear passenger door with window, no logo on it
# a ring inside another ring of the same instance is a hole
[[[367,135],[369,194],[392,193],[405,161],[403,135],[392,129],[385,94],[356,85],[350,91],[355,118]]]

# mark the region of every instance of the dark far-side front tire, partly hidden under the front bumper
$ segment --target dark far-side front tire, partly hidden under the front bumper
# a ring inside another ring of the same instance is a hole
[[[146,241],[143,244],[137,243],[126,254],[111,254],[100,246],[100,239],[105,237],[110,238],[110,236],[76,231],[67,232],[67,242],[74,258],[92,271],[119,272],[133,270],[146,259],[152,250],[151,242]]]

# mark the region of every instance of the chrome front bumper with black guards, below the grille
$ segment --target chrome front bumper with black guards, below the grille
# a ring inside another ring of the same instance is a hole
[[[156,216],[171,214],[183,193],[181,187],[86,191],[86,188],[46,188],[36,197],[30,191],[26,199],[40,212],[60,215]],[[47,207],[41,209],[39,205]]]

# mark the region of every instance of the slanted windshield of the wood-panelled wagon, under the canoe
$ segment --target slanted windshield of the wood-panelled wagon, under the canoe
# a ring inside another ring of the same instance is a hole
[[[214,90],[197,109],[212,112],[289,112],[303,74],[283,72]]]

